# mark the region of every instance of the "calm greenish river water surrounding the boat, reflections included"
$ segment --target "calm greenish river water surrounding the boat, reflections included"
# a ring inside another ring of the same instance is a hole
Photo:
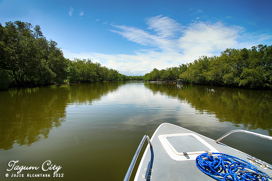
[[[142,81],[0,91],[0,180],[123,180],[163,122],[212,139],[233,129],[272,136],[272,91]],[[272,164],[270,140],[221,142]]]

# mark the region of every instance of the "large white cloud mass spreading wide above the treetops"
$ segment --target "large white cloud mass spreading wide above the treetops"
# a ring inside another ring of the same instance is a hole
[[[125,75],[144,75],[153,68],[163,69],[193,62],[199,56],[219,56],[226,48],[251,48],[272,40],[271,34],[246,33],[241,26],[222,22],[194,21],[186,26],[162,15],[146,19],[147,28],[111,24],[112,32],[143,45],[134,54],[71,53],[66,58],[90,58]],[[270,41],[271,42],[271,41]],[[144,49],[145,46],[154,47]]]

